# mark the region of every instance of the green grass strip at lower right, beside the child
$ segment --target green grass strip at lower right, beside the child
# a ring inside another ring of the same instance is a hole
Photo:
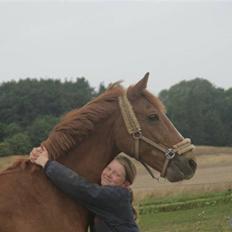
[[[195,203],[188,207],[189,202]],[[140,204],[144,204],[144,208],[149,204],[150,208],[151,205],[156,208],[149,210],[148,207],[139,215],[138,222],[143,232],[232,231],[231,191],[174,198],[149,198]]]

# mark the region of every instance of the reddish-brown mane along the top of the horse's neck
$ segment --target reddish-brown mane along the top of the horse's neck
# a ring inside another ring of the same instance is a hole
[[[117,102],[118,96],[123,92],[123,87],[116,83],[82,108],[68,112],[42,143],[47,148],[50,159],[57,159],[78,146],[94,131],[98,122],[112,114],[115,109],[115,104],[112,103]]]

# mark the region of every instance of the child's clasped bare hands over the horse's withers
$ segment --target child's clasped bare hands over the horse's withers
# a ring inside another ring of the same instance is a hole
[[[30,160],[32,163],[44,167],[49,160],[48,151],[45,147],[35,147],[30,153]]]

